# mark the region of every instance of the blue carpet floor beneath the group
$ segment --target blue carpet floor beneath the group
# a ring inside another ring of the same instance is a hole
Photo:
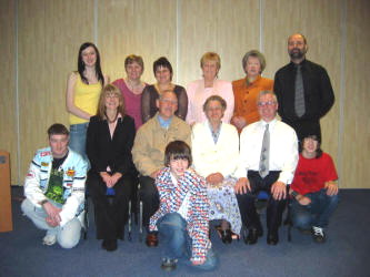
[[[43,246],[44,233],[21,215],[21,188],[13,187],[12,194],[14,230],[0,233],[0,276],[370,276],[370,189],[340,192],[341,202],[327,230],[326,244],[316,244],[296,229],[288,243],[287,228],[281,227],[277,246],[267,245],[266,237],[254,246],[242,240],[223,245],[213,230],[220,265],[211,273],[184,265],[163,273],[161,248],[139,243],[137,226],[132,242],[119,242],[117,252],[107,253],[94,238],[92,213],[88,239],[81,239],[77,248]]]

